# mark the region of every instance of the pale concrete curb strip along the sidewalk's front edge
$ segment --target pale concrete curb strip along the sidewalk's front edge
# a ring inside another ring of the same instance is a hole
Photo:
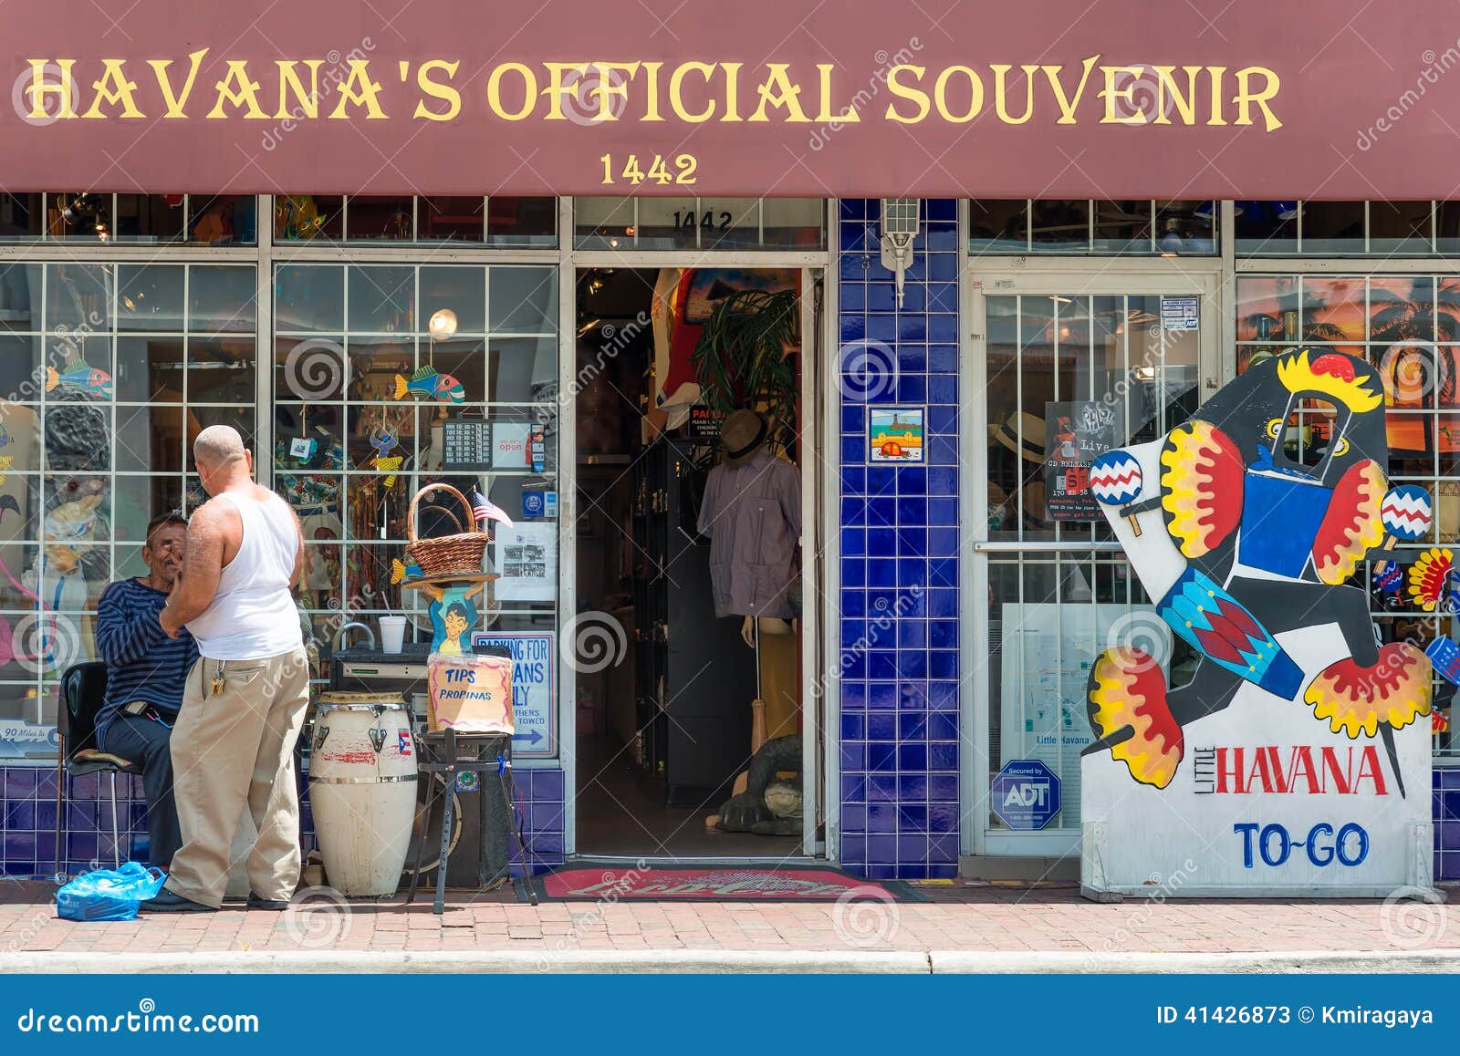
[[[1460,950],[1311,951],[1250,954],[1161,952],[993,952],[968,950],[885,951],[543,951],[482,950],[461,952],[231,951],[206,954],[61,954],[16,952],[0,957],[6,973],[64,974],[207,974],[272,973],[1317,973],[1447,971],[1460,973]]]

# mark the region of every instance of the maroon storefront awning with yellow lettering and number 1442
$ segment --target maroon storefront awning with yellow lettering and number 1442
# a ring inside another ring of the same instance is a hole
[[[9,191],[1450,198],[1450,0],[10,0]]]

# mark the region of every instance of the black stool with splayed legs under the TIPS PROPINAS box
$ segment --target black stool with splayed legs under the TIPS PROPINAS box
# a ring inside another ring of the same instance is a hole
[[[426,846],[426,824],[431,818],[431,808],[435,805],[437,798],[442,799],[441,807],[441,859],[437,862],[437,898],[432,906],[437,916],[445,912],[445,897],[447,897],[447,862],[451,856],[451,823],[454,815],[456,796],[453,792],[457,791],[457,774],[473,773],[476,774],[476,792],[480,796],[477,808],[477,821],[480,831],[477,833],[480,842],[480,850],[477,856],[476,866],[476,881],[482,891],[498,880],[498,875],[488,875],[488,849],[491,846],[489,824],[488,824],[488,792],[486,786],[492,776],[496,777],[496,788],[502,793],[502,802],[507,808],[507,824],[512,830],[512,840],[517,843],[517,856],[523,865],[523,875],[527,881],[527,896],[529,901],[537,904],[537,891],[533,887],[531,865],[527,861],[527,849],[523,846],[521,833],[517,824],[512,821],[512,773],[511,760],[508,753],[511,748],[511,737],[502,734],[463,734],[457,737],[454,729],[445,729],[439,734],[425,734],[416,738],[416,744],[420,750],[420,773],[441,774],[444,782],[437,782],[428,779],[429,791],[426,792],[426,802],[418,810],[418,824],[416,824],[416,856],[415,866],[410,874],[410,890],[406,893],[406,904],[409,906],[416,900],[416,887],[420,882],[420,862]],[[499,761],[501,760],[501,761]],[[463,789],[470,791],[470,789]],[[512,863],[508,859],[505,866],[507,878],[511,880]]]

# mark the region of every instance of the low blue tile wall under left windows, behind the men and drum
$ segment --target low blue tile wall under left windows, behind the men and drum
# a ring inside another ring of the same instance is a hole
[[[512,772],[517,815],[529,861],[543,872],[564,861],[562,770]],[[299,785],[299,834],[305,855],[315,847],[308,779]],[[111,783],[102,774],[70,782],[63,865],[79,874],[93,861],[111,865]],[[50,877],[55,871],[55,769],[0,767],[0,877]],[[117,827],[123,861],[147,858],[147,802],[142,779],[117,776]],[[512,849],[517,859],[517,850]],[[521,869],[514,865],[514,874]]]

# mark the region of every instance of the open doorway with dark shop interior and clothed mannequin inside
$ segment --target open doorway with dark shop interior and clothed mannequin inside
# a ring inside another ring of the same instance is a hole
[[[577,671],[583,856],[803,853],[806,274],[577,274],[577,611],[625,643]]]

